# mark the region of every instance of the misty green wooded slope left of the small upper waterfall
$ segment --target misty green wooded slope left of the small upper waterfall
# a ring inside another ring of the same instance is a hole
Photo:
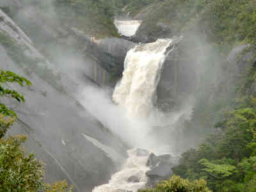
[[[0,8],[14,20],[17,19],[16,17],[20,17],[17,14],[21,10],[28,14],[29,12],[36,13],[34,21],[40,19],[56,27],[77,28],[89,36],[97,38],[118,36],[113,23],[116,8],[110,1],[26,0],[18,4],[21,6],[2,6]],[[26,31],[26,27],[24,27],[24,31]]]

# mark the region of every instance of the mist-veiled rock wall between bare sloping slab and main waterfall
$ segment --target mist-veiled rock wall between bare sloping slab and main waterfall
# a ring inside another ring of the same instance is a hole
[[[113,86],[109,81],[122,74],[125,54],[135,45],[120,38],[99,39],[96,34],[88,35],[68,22],[63,23],[52,6],[40,10],[32,3],[16,1],[3,1],[0,6],[10,7],[15,22],[54,65],[66,69],[75,66],[83,70],[84,76],[102,85]]]

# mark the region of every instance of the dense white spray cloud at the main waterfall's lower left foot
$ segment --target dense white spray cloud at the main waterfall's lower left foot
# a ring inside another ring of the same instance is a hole
[[[131,147],[145,148],[147,146],[150,124],[136,118],[129,119],[125,109],[113,103],[111,90],[87,86],[78,95],[84,108],[88,109],[113,133],[127,141]]]

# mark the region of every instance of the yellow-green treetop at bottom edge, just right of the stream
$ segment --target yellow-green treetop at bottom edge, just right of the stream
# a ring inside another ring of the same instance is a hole
[[[188,179],[182,179],[179,176],[173,175],[169,180],[163,180],[155,189],[143,189],[140,192],[210,192],[207,188],[205,180],[194,180],[189,182]]]

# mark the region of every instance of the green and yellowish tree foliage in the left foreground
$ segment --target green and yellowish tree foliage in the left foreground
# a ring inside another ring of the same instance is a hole
[[[14,72],[0,70],[0,97],[10,97],[25,102],[24,96],[10,89],[11,84],[31,86],[25,77]],[[17,114],[8,106],[0,103],[0,192],[71,192],[66,180],[55,182],[52,186],[44,180],[44,163],[35,154],[26,155],[21,145],[26,136],[3,138],[7,129],[15,122]]]

